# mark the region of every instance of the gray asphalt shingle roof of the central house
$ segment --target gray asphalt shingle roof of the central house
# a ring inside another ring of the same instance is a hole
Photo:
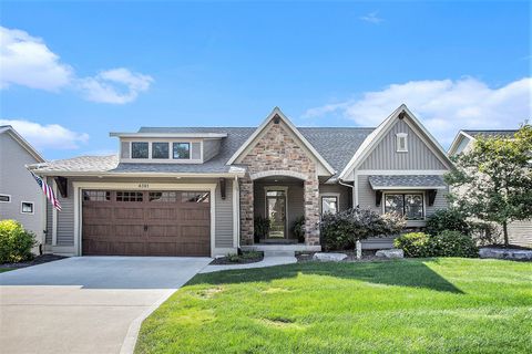
[[[141,127],[139,133],[225,133],[219,153],[204,164],[120,163],[117,156],[81,156],[50,162],[47,171],[109,173],[227,173],[227,160],[255,132],[256,127]],[[374,128],[300,127],[299,132],[339,174]]]

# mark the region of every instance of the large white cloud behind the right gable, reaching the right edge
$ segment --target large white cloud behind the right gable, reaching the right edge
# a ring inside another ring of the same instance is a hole
[[[442,145],[449,145],[459,129],[516,128],[531,118],[532,79],[501,87],[489,87],[473,77],[411,81],[364,93],[359,100],[310,108],[304,117],[339,114],[358,125],[377,126],[402,103]]]

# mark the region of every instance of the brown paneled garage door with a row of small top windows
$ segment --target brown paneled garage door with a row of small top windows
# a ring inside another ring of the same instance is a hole
[[[83,190],[82,251],[211,256],[208,191]]]

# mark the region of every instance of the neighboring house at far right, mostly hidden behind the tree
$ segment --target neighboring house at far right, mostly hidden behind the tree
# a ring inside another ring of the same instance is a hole
[[[505,138],[513,138],[518,131],[516,129],[503,129],[503,131],[460,131],[457,134],[457,137],[449,148],[449,156],[454,156],[458,154],[467,154],[473,147],[475,139],[479,136],[484,137],[494,137],[502,136]],[[510,243],[532,247],[532,220],[529,221],[515,221],[508,226],[508,236]]]

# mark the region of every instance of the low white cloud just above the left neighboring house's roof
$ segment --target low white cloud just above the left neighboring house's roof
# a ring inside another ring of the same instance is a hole
[[[59,124],[41,125],[24,119],[0,119],[0,125],[11,125],[37,149],[74,149],[86,143],[89,135],[75,133]]]

